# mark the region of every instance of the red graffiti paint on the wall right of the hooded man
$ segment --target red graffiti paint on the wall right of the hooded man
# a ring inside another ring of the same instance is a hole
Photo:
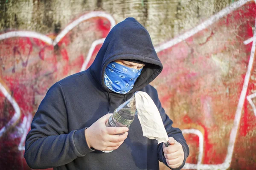
[[[164,69],[152,85],[157,86],[166,112],[175,121],[183,120],[178,125],[203,133],[201,164],[222,164],[226,159],[252,49],[252,43],[245,45],[244,41],[253,36],[255,11],[255,3],[247,3],[192,37],[158,53]],[[253,91],[256,85],[254,69],[246,96],[256,92]],[[241,161],[243,165],[239,167],[243,169],[249,165],[255,169],[255,154],[250,150],[246,156],[245,150],[256,148],[256,145],[245,141],[256,140],[253,135],[256,115],[246,98],[242,106],[231,168],[236,169],[239,161],[234,160],[240,160],[238,155],[242,154],[247,161]],[[192,138],[186,140],[189,146],[198,143]],[[198,156],[198,150],[192,148],[192,157],[195,156],[193,152]],[[187,162],[197,164],[195,160],[198,161],[191,158]]]

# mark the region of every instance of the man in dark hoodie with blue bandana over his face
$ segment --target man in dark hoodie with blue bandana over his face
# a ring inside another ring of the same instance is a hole
[[[188,145],[181,131],[172,127],[157,90],[148,85],[162,69],[148,31],[134,18],[117,24],[90,68],[62,79],[47,92],[26,137],[28,165],[58,170],[157,170],[160,160],[173,170],[181,169]],[[105,126],[111,116],[107,113],[136,91],[148,93],[159,109],[169,147],[143,137],[137,116],[129,129]]]

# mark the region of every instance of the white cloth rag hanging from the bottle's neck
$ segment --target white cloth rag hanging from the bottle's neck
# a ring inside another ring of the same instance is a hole
[[[135,103],[143,136],[148,139],[157,139],[158,144],[168,142],[163,120],[151,97],[143,91],[138,91],[135,94]]]

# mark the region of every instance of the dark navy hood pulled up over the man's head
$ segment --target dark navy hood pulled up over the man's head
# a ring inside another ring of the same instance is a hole
[[[148,31],[132,17],[126,18],[111,29],[89,68],[100,87],[111,93],[115,92],[105,86],[104,71],[106,66],[116,59],[136,59],[147,63],[128,94],[148,85],[163,70]]]

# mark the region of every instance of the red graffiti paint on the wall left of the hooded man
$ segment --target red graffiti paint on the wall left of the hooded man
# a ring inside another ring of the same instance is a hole
[[[102,22],[104,26],[100,26]],[[88,25],[90,29],[87,29]],[[80,71],[90,45],[95,40],[105,38],[102,36],[109,31],[109,21],[95,17],[73,28],[55,46],[30,37],[0,40],[0,83],[12,96],[20,111],[17,120],[0,136],[0,167],[30,169],[23,158],[24,140],[22,141],[24,134],[29,131],[29,128],[25,128],[31,123],[29,115],[35,114],[53,83]],[[48,36],[54,39],[57,35]],[[94,50],[90,61],[93,61],[100,46]],[[1,91],[0,129],[8,124],[15,113],[14,106]]]

